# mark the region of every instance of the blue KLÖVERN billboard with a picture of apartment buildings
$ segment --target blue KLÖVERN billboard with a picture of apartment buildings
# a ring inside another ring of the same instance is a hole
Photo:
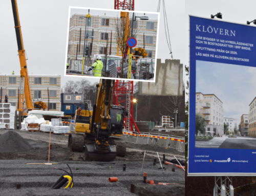
[[[189,22],[188,176],[255,176],[256,28]]]

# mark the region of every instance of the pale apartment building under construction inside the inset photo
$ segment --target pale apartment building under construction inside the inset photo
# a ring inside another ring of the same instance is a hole
[[[77,59],[81,59],[83,56],[86,19],[79,18],[79,16],[85,17],[86,14],[75,13],[70,17],[68,45],[69,59],[75,59],[76,55]],[[89,51],[91,51],[91,57],[95,54],[105,54],[106,40],[109,40],[108,53],[111,50],[111,55],[118,55],[115,28],[117,20],[119,21],[120,17],[91,14],[91,18],[88,19],[86,33],[86,48],[88,47]],[[155,58],[156,55],[157,26],[157,19],[150,18],[149,20],[140,20],[137,18],[137,21],[134,22],[134,29],[137,29],[137,33],[134,36],[137,39],[136,48],[143,48],[145,45],[148,57],[151,58]]]

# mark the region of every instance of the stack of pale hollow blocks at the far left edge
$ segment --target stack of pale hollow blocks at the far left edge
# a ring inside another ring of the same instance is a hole
[[[0,103],[0,128],[14,129],[15,111],[10,103]]]

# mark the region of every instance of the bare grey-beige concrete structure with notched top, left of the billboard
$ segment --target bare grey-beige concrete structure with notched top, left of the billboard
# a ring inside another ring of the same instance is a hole
[[[139,82],[140,95],[182,96],[183,64],[180,60],[157,59],[156,82]]]

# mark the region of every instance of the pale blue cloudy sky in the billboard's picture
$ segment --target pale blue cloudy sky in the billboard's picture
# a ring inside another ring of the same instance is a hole
[[[224,116],[241,119],[255,98],[256,68],[197,60],[196,92],[215,94]]]

